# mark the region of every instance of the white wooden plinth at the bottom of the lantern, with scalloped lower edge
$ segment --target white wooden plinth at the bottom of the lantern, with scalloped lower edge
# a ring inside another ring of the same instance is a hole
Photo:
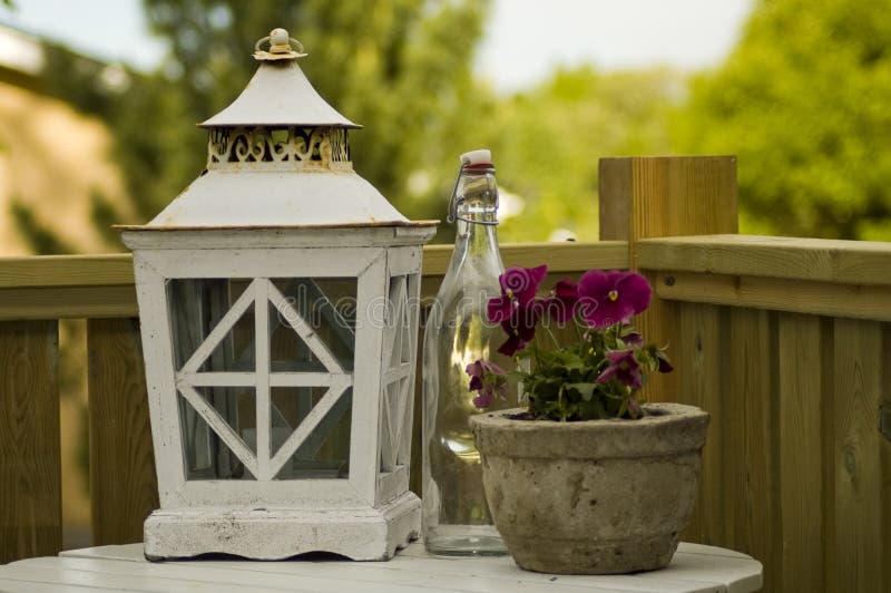
[[[144,534],[149,561],[214,553],[283,560],[307,552],[380,561],[420,532],[421,502],[405,493],[376,508],[159,509],[146,519]]]

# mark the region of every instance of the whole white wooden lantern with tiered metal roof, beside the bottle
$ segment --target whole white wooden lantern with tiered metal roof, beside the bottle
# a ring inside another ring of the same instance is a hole
[[[359,126],[313,89],[287,31],[266,39],[249,85],[202,124],[207,169],[121,227],[160,490],[145,554],[385,560],[420,529],[417,299],[437,223],[353,172]]]

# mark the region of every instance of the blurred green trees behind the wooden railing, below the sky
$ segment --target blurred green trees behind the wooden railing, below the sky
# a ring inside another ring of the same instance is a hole
[[[47,59],[47,91],[110,125],[134,202],[119,210],[136,217],[116,222],[145,222],[200,173],[206,133],[194,124],[247,84],[257,38],[285,27],[322,96],[365,126],[351,133],[356,171],[409,217],[443,218],[457,155],[488,146],[501,188],[522,204],[503,241],[555,230],[595,240],[599,157],[730,153],[744,232],[891,240],[884,0],[762,0],[713,71],[580,67],[510,97],[472,77],[488,1],[144,4],[170,47],[158,71],[109,77],[62,48]],[[438,241],[452,232],[442,225]]]

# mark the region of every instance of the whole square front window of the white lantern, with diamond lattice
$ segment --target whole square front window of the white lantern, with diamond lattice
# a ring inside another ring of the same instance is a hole
[[[168,283],[187,479],[349,476],[355,295],[355,278]]]

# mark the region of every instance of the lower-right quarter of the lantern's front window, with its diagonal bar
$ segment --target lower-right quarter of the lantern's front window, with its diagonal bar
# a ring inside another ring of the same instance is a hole
[[[350,476],[352,387],[273,387],[271,390],[273,451],[300,428],[300,444],[276,479],[324,479]],[[311,416],[322,410],[321,418]],[[317,421],[316,421],[317,420]]]

